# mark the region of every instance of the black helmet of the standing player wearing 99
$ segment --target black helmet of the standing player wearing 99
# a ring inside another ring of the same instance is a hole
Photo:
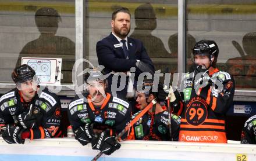
[[[219,54],[219,47],[215,41],[211,40],[201,40],[195,43],[193,48],[194,55],[204,55],[204,56],[214,56],[215,58],[218,57]]]

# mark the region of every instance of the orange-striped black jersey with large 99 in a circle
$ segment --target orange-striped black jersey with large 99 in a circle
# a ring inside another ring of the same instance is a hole
[[[193,76],[191,74],[183,76],[180,92],[182,100],[177,100],[176,105],[173,105],[174,111],[181,112],[182,116],[180,141],[227,141],[225,112],[233,101],[234,79],[227,72],[219,71],[217,68],[209,73],[209,77],[217,78],[222,82],[223,89],[219,90],[218,86],[211,82],[195,93]]]

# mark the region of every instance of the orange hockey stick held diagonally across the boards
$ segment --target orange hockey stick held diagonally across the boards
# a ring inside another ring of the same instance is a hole
[[[155,100],[152,100],[150,104],[147,105],[147,107],[145,107],[143,109],[143,111],[140,112],[140,114],[138,114],[133,120],[131,120],[131,122],[126,125],[125,129],[123,129],[119,134],[118,136],[115,137],[115,140],[118,140],[120,137],[123,136],[123,134],[126,133],[126,131],[128,131],[130,129],[130,127],[132,127],[134,125],[134,123],[137,122],[138,119],[140,119],[150,108],[153,107],[154,104],[156,104],[157,101]],[[97,159],[99,159],[99,157],[101,157],[103,153],[102,152],[99,152],[91,161],[96,161]]]

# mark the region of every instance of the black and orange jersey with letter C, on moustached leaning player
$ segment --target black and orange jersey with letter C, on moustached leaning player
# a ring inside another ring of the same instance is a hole
[[[86,123],[93,123],[93,129],[112,129],[118,134],[130,122],[131,107],[125,100],[106,93],[104,103],[96,107],[88,99],[90,97],[86,98],[85,94],[81,97],[76,95],[69,103],[67,114],[73,131]],[[122,139],[126,137],[127,134],[124,134]]]

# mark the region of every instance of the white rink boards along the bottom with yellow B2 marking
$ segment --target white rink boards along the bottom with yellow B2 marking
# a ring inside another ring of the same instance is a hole
[[[0,138],[0,160],[91,160],[98,151],[74,139],[26,140],[24,145],[7,144]],[[98,160],[256,160],[256,145],[200,144],[166,141],[123,141],[111,156]]]

